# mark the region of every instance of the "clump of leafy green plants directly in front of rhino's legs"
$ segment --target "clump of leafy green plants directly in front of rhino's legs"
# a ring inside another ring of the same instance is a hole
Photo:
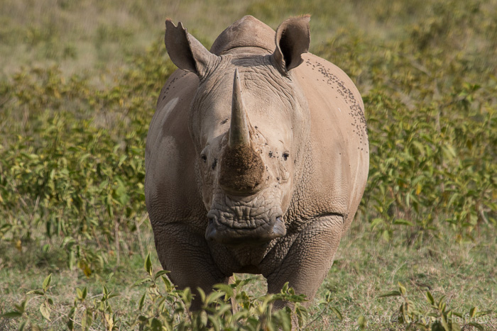
[[[307,320],[307,310],[300,305],[305,301],[302,295],[296,295],[288,284],[280,293],[266,294],[260,298],[250,296],[244,286],[253,279],[234,277],[233,284],[217,284],[212,293],[204,293],[197,288],[202,300],[202,308],[193,312],[192,291],[190,288],[178,290],[165,274],[158,271],[153,274],[150,254],[146,258],[146,279],[137,281],[135,286],[148,284],[146,293],[139,302],[140,315],[132,325],[139,325],[143,330],[290,330],[292,319],[302,326]],[[293,306],[275,310],[276,302],[284,301]]]

